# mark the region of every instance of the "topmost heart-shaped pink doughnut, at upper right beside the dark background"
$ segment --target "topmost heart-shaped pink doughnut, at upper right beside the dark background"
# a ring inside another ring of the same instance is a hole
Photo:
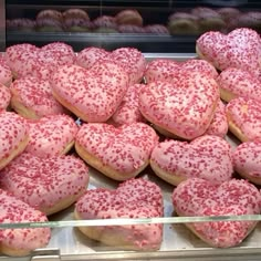
[[[223,71],[238,67],[252,71],[261,70],[261,39],[252,29],[239,28],[229,34],[210,31],[202,34],[196,43],[198,55]]]

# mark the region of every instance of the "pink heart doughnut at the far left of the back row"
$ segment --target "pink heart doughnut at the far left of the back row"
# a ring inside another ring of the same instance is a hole
[[[72,46],[53,42],[42,48],[23,43],[7,48],[7,63],[14,77],[34,76],[50,80],[56,67],[73,64],[75,54]]]

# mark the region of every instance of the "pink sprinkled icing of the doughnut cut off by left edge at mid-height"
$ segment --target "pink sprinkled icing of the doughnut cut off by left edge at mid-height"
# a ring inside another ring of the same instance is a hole
[[[21,116],[11,113],[0,113],[0,159],[6,159],[28,136],[28,124]]]

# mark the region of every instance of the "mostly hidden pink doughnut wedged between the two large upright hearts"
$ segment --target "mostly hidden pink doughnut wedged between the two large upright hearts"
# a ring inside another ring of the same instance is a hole
[[[138,108],[138,96],[143,84],[130,85],[112,119],[115,125],[146,122]]]

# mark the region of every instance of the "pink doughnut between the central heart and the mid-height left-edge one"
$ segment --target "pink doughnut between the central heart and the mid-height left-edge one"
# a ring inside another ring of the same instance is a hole
[[[30,142],[25,152],[38,157],[54,157],[73,147],[79,127],[70,116],[50,115],[28,123]]]

